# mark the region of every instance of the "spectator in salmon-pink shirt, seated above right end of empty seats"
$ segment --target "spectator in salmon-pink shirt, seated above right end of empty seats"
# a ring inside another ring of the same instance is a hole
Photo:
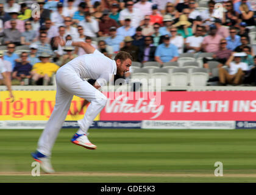
[[[217,27],[212,24],[210,26],[209,35],[204,37],[202,41],[202,51],[204,52],[216,52],[219,51],[219,43],[222,39],[220,35],[217,35]]]

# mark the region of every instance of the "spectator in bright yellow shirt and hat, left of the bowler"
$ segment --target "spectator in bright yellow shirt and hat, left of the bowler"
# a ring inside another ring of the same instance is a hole
[[[40,54],[41,62],[35,63],[32,68],[32,85],[37,85],[38,80],[41,79],[43,79],[43,85],[49,85],[52,75],[60,68],[60,66],[50,62],[50,57],[45,52]]]

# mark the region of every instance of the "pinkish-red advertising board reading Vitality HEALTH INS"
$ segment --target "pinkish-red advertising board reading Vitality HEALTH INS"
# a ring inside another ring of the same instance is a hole
[[[105,93],[102,121],[256,121],[256,91]]]

